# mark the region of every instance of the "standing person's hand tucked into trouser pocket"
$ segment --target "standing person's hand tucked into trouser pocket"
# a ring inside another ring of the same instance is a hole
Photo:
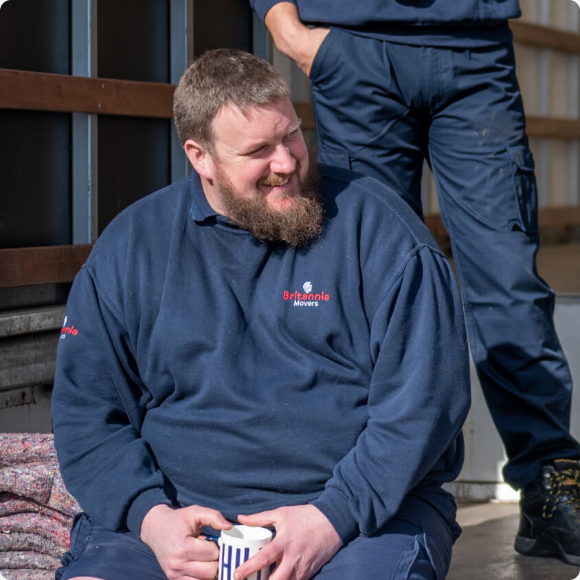
[[[330,32],[328,28],[304,26],[298,16],[298,8],[291,2],[274,4],[268,10],[264,23],[274,38],[276,48],[289,56],[306,76],[310,76],[314,57]]]

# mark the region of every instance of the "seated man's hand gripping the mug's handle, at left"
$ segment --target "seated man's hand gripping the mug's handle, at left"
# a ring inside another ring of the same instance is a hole
[[[153,506],[143,518],[141,539],[147,544],[169,580],[212,580],[219,550],[199,537],[203,526],[216,530],[232,527],[219,511],[200,506],[172,509]]]

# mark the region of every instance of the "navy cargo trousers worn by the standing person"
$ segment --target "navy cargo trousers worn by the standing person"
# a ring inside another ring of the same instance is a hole
[[[332,28],[311,70],[320,161],[388,183],[422,215],[423,159],[451,238],[471,355],[518,489],[580,456],[572,380],[537,274],[537,190],[513,46],[413,46]]]

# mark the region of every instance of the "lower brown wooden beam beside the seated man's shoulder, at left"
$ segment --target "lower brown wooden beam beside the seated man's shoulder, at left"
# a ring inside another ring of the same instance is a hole
[[[72,282],[91,244],[0,249],[0,288]]]

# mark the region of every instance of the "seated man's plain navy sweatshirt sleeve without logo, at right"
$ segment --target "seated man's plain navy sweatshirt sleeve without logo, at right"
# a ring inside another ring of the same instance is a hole
[[[412,489],[458,476],[470,402],[462,306],[447,260],[423,247],[371,318],[368,423],[312,503],[343,543],[372,535]]]

